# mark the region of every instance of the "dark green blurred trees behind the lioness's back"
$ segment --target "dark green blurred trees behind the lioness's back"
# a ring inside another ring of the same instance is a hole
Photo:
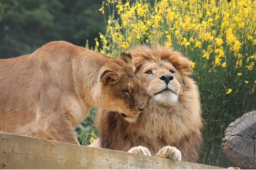
[[[104,33],[100,0],[0,0],[0,58],[30,54],[50,41],[95,45]],[[99,39],[99,38],[98,38]]]

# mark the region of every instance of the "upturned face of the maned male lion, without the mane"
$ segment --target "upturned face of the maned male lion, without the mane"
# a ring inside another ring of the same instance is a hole
[[[156,104],[167,107],[177,104],[181,78],[172,63],[146,61],[136,75]]]

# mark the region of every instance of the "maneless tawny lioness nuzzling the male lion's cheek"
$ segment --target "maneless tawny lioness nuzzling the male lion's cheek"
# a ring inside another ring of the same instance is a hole
[[[131,62],[65,41],[0,60],[0,131],[79,144],[74,128],[93,106],[137,117],[144,104]]]

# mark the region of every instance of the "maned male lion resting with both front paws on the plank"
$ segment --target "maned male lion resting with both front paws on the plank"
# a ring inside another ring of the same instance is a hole
[[[99,110],[99,138],[90,147],[174,160],[181,160],[182,153],[182,160],[196,162],[202,118],[198,88],[188,77],[189,60],[160,45],[138,46],[131,53],[134,72],[149,100],[134,123],[117,112]]]

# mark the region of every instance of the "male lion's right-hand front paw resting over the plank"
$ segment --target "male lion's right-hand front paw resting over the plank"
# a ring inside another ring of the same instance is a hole
[[[175,147],[166,146],[160,149],[156,154],[157,157],[164,157],[173,160],[181,161],[181,152]]]

